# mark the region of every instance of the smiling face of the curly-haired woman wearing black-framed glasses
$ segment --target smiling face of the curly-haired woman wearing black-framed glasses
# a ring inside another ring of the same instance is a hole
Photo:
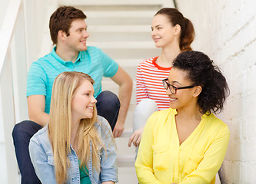
[[[188,74],[185,71],[173,67],[171,68],[168,83],[175,87],[191,86],[192,81],[188,79]],[[177,90],[176,94],[171,94],[171,91],[166,90],[166,94],[170,98],[170,107],[172,109],[181,109],[187,107],[194,107],[197,105],[198,95],[201,92],[201,87],[195,86],[188,89]],[[199,92],[199,93],[198,93]]]

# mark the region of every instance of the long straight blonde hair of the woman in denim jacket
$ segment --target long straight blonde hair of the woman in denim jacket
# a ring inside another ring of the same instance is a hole
[[[67,171],[70,166],[68,153],[71,152],[71,100],[74,97],[75,91],[84,80],[94,84],[93,79],[88,74],[76,71],[63,72],[55,78],[52,87],[48,136],[52,143],[57,183],[63,183],[67,179]],[[97,121],[96,107],[94,106],[93,109],[93,117],[81,119],[75,141],[78,143],[77,154],[81,161],[80,167],[88,167],[87,164],[92,155],[92,166],[99,170],[98,146],[103,145],[95,127],[95,122]],[[90,144],[91,153],[89,149]]]

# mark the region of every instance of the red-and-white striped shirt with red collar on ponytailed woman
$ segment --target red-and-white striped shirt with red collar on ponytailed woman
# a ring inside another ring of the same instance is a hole
[[[155,100],[158,110],[170,107],[169,97],[166,95],[162,80],[168,78],[171,67],[160,67],[155,63],[156,59],[150,58],[138,64],[136,74],[136,101],[150,98]]]

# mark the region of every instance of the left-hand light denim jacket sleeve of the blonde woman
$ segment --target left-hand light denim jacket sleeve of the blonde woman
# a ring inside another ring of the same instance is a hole
[[[43,184],[56,183],[53,163],[48,163],[48,156],[40,144],[32,138],[29,143],[29,154],[35,173]],[[53,162],[53,158],[51,159]]]

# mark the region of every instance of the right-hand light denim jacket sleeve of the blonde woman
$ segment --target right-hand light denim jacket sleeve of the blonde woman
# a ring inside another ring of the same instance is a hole
[[[116,146],[111,127],[103,117],[98,117],[98,120],[101,125],[102,143],[105,146],[105,149],[101,148],[101,182],[118,182]]]

